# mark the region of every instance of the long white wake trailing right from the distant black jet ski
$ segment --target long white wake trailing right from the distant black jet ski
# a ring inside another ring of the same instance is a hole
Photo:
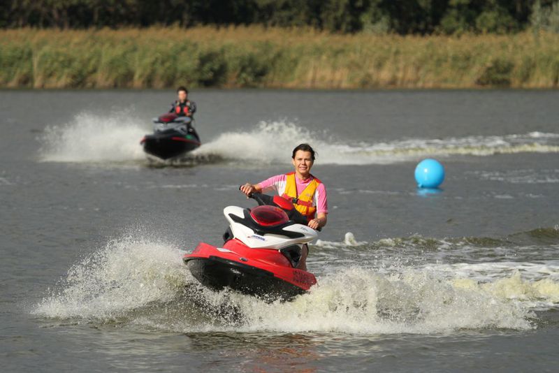
[[[386,164],[426,156],[559,152],[559,134],[531,132],[524,135],[467,136],[464,138],[409,139],[390,142],[354,142],[313,133],[292,122],[261,122],[251,131],[222,133],[194,152],[208,158],[242,160],[245,163],[289,163],[291,149],[308,142],[322,164]]]

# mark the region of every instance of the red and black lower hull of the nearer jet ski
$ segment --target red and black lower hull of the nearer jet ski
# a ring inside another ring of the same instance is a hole
[[[201,242],[183,261],[208,288],[227,287],[269,301],[291,300],[317,283],[312,273],[293,268],[278,250],[251,249],[237,239],[219,248]]]

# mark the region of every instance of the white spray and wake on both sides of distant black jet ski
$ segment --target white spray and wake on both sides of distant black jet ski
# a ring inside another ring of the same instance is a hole
[[[141,122],[125,112],[108,116],[80,113],[71,123],[50,126],[45,130],[39,139],[42,143],[41,160],[145,162],[146,156],[139,141],[149,129],[139,126]],[[286,164],[291,162],[291,149],[301,142],[309,142],[317,149],[317,162],[343,165],[388,164],[426,156],[559,152],[559,134],[556,133],[348,142],[332,133],[313,132],[282,120],[260,122],[248,131],[221,133],[182,159],[155,161],[150,166],[191,166],[235,161],[253,165]]]

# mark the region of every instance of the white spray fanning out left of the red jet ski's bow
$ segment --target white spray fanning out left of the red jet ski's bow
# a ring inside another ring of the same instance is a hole
[[[171,245],[122,237],[73,265],[34,314],[61,319],[117,318],[150,302],[172,299],[184,286],[185,275],[180,251]]]

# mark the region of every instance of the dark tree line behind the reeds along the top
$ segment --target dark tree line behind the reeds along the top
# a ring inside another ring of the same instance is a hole
[[[559,31],[559,0],[3,0],[0,27],[260,24],[374,34]]]

